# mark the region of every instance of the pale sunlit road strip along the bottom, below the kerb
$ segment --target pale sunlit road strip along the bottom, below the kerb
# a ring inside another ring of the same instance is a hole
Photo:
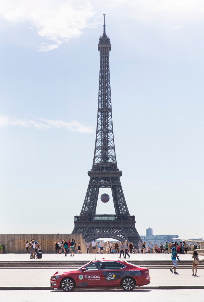
[[[69,293],[63,291],[0,291],[1,302],[61,302],[61,301],[165,301],[179,302],[203,301],[204,290],[134,290],[125,292],[123,290],[81,290]]]

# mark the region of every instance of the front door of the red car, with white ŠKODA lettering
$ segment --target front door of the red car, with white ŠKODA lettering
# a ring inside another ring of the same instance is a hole
[[[93,262],[84,267],[85,271],[84,268],[78,271],[76,280],[77,287],[100,287],[102,272],[101,266],[102,262]]]

